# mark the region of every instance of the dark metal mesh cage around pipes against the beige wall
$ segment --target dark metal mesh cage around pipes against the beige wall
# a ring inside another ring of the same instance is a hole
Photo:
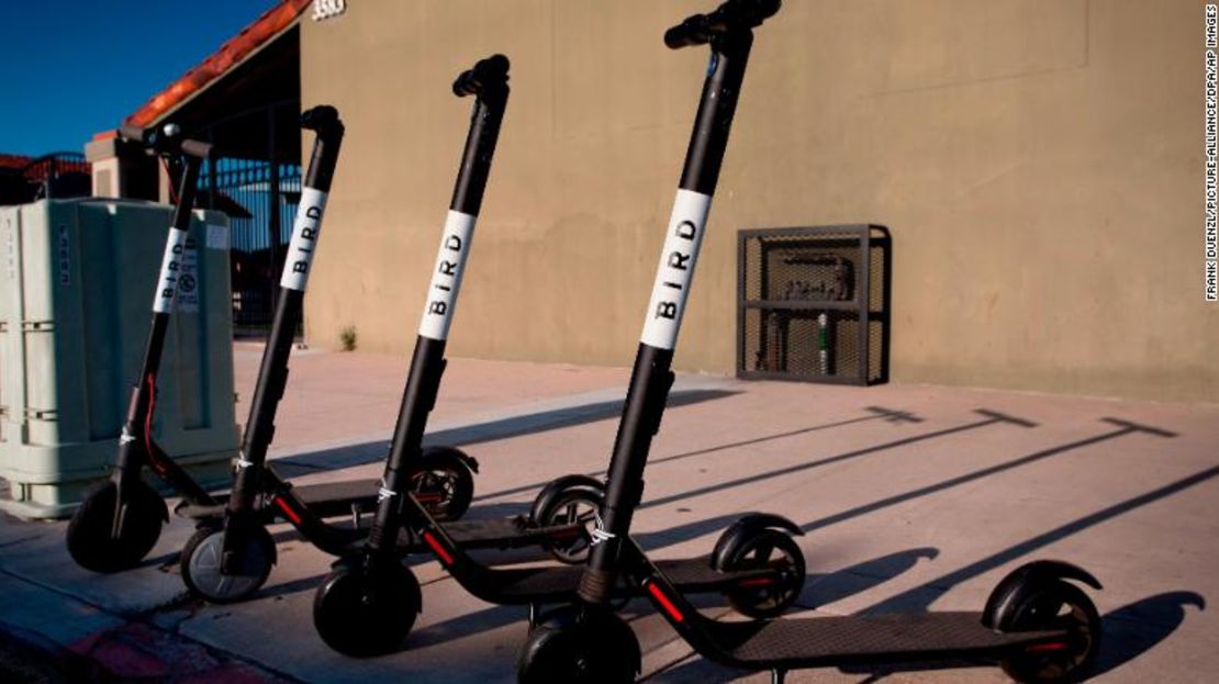
[[[891,246],[880,226],[739,232],[737,377],[887,382]]]

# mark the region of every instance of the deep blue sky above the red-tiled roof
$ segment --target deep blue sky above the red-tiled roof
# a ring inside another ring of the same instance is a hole
[[[0,0],[0,154],[82,151],[274,0]]]

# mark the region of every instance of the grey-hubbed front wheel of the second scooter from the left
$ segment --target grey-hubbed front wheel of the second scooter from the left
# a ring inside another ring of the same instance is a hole
[[[195,530],[182,550],[182,580],[191,594],[212,604],[235,604],[262,588],[275,563],[275,541],[262,525],[241,536],[236,572],[222,572],[224,529],[205,524]],[[229,533],[233,534],[233,533]]]

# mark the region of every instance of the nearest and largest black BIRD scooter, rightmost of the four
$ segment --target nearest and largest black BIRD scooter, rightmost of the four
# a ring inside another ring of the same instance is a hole
[[[1039,561],[1017,568],[981,612],[717,622],[698,613],[664,567],[649,561],[630,538],[753,28],[778,10],[779,0],[729,0],[664,35],[673,49],[709,44],[711,65],[610,465],[597,544],[580,580],[579,601],[546,616],[521,649],[518,682],[634,680],[639,643],[610,607],[613,588],[622,582],[642,588],[703,657],[770,671],[775,683],[797,668],[963,658],[997,661],[1020,682],[1075,680],[1097,652],[1101,622],[1087,595],[1067,580],[1097,589],[1100,583],[1068,563]]]

